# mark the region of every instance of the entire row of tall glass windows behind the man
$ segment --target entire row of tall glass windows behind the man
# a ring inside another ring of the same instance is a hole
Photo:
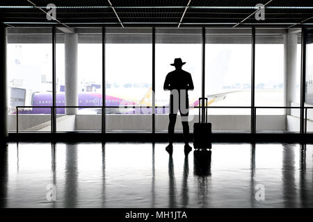
[[[56,29],[56,105],[101,106],[102,87],[106,87],[105,105],[116,106],[106,108],[107,133],[150,133],[152,108],[145,106],[152,106],[152,28],[105,28],[105,60],[102,60],[102,28],[75,28],[75,31],[63,33]],[[156,28],[155,31],[155,99],[159,107],[156,108],[155,130],[157,133],[168,130],[170,93],[163,90],[163,83],[166,75],[175,69],[170,65],[175,58],[186,62],[183,69],[193,78],[195,89],[188,93],[189,126],[193,130],[193,122],[198,121],[198,108],[192,106],[199,105],[198,98],[202,95],[202,28]],[[300,102],[301,49],[300,33],[296,38],[294,35],[297,32],[297,28],[288,35],[283,28],[256,28],[257,132],[297,131],[290,126],[299,123],[299,110],[282,108],[298,106]],[[312,105],[313,40],[312,31],[308,32],[305,103]],[[291,35],[293,45],[289,50],[291,43],[286,37]],[[51,40],[51,28],[8,28],[10,131],[16,130],[16,106],[49,107],[53,103]],[[250,131],[251,42],[251,28],[205,29],[204,94],[209,99],[207,110],[214,131]],[[293,51],[291,58],[288,57],[290,51]],[[77,60],[67,61],[76,58],[75,55]],[[296,59],[291,71],[285,62],[287,58]],[[72,62],[76,62],[77,67],[71,67]],[[106,86],[102,86],[102,62]],[[276,106],[280,108],[273,108]],[[40,131],[50,131],[50,108],[21,109],[19,114],[19,130],[38,130],[38,126],[45,126]],[[75,124],[69,129],[59,119],[57,131],[101,130],[100,108],[56,109],[56,118],[65,114],[75,114]],[[311,116],[309,113],[308,118],[312,119]],[[182,124],[178,117],[176,132],[180,130]]]

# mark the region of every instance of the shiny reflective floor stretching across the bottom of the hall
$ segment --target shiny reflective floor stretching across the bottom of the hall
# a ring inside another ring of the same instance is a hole
[[[165,146],[10,143],[0,207],[313,207],[312,145]]]

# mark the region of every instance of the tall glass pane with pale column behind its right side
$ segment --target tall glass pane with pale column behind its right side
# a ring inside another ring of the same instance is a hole
[[[274,29],[256,29],[256,106],[300,106],[299,31],[296,28],[291,28],[288,33]],[[257,120],[264,126],[257,126],[257,130],[298,132],[298,112],[296,109],[284,108],[258,109],[257,115],[260,117]]]

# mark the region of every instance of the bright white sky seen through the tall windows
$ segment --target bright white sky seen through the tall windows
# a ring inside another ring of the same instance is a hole
[[[264,83],[271,87],[283,82],[283,44],[256,44],[256,85]],[[298,44],[298,67],[300,66]],[[202,58],[201,44],[156,44],[156,87],[163,94],[163,81],[174,68],[175,58],[182,58],[184,69],[191,73],[195,92],[201,88]],[[308,50],[310,56],[312,50]],[[312,57],[312,56],[311,56]],[[250,44],[206,45],[206,94],[225,92],[225,85],[250,84]],[[310,63],[310,62],[309,62]],[[17,69],[19,67],[19,69]],[[20,71],[19,71],[20,70]],[[30,71],[33,71],[30,73]],[[45,74],[51,81],[51,44],[8,44],[9,78],[27,78]],[[56,44],[56,77],[64,84],[64,44]],[[297,68],[300,76],[300,69]],[[23,75],[23,76],[22,76]],[[79,44],[79,83],[102,83],[102,45]],[[298,80],[298,78],[297,78]],[[106,44],[106,81],[125,83],[152,83],[151,44]],[[24,81],[29,83],[29,81]],[[34,86],[36,81],[33,82]],[[300,83],[300,78],[298,80]]]

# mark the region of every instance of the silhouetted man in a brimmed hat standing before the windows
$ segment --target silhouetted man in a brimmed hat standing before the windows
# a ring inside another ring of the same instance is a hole
[[[168,124],[168,146],[166,151],[172,153],[172,142],[174,136],[174,128],[176,123],[177,112],[179,110],[182,117],[182,126],[184,133],[185,152],[191,151],[191,146],[188,144],[189,138],[189,125],[188,125],[188,112],[189,112],[189,100],[188,90],[193,90],[193,80],[191,74],[182,70],[182,66],[186,62],[182,62],[181,58],[175,58],[174,63],[175,70],[171,71],[164,82],[163,89],[170,90],[170,123]]]

